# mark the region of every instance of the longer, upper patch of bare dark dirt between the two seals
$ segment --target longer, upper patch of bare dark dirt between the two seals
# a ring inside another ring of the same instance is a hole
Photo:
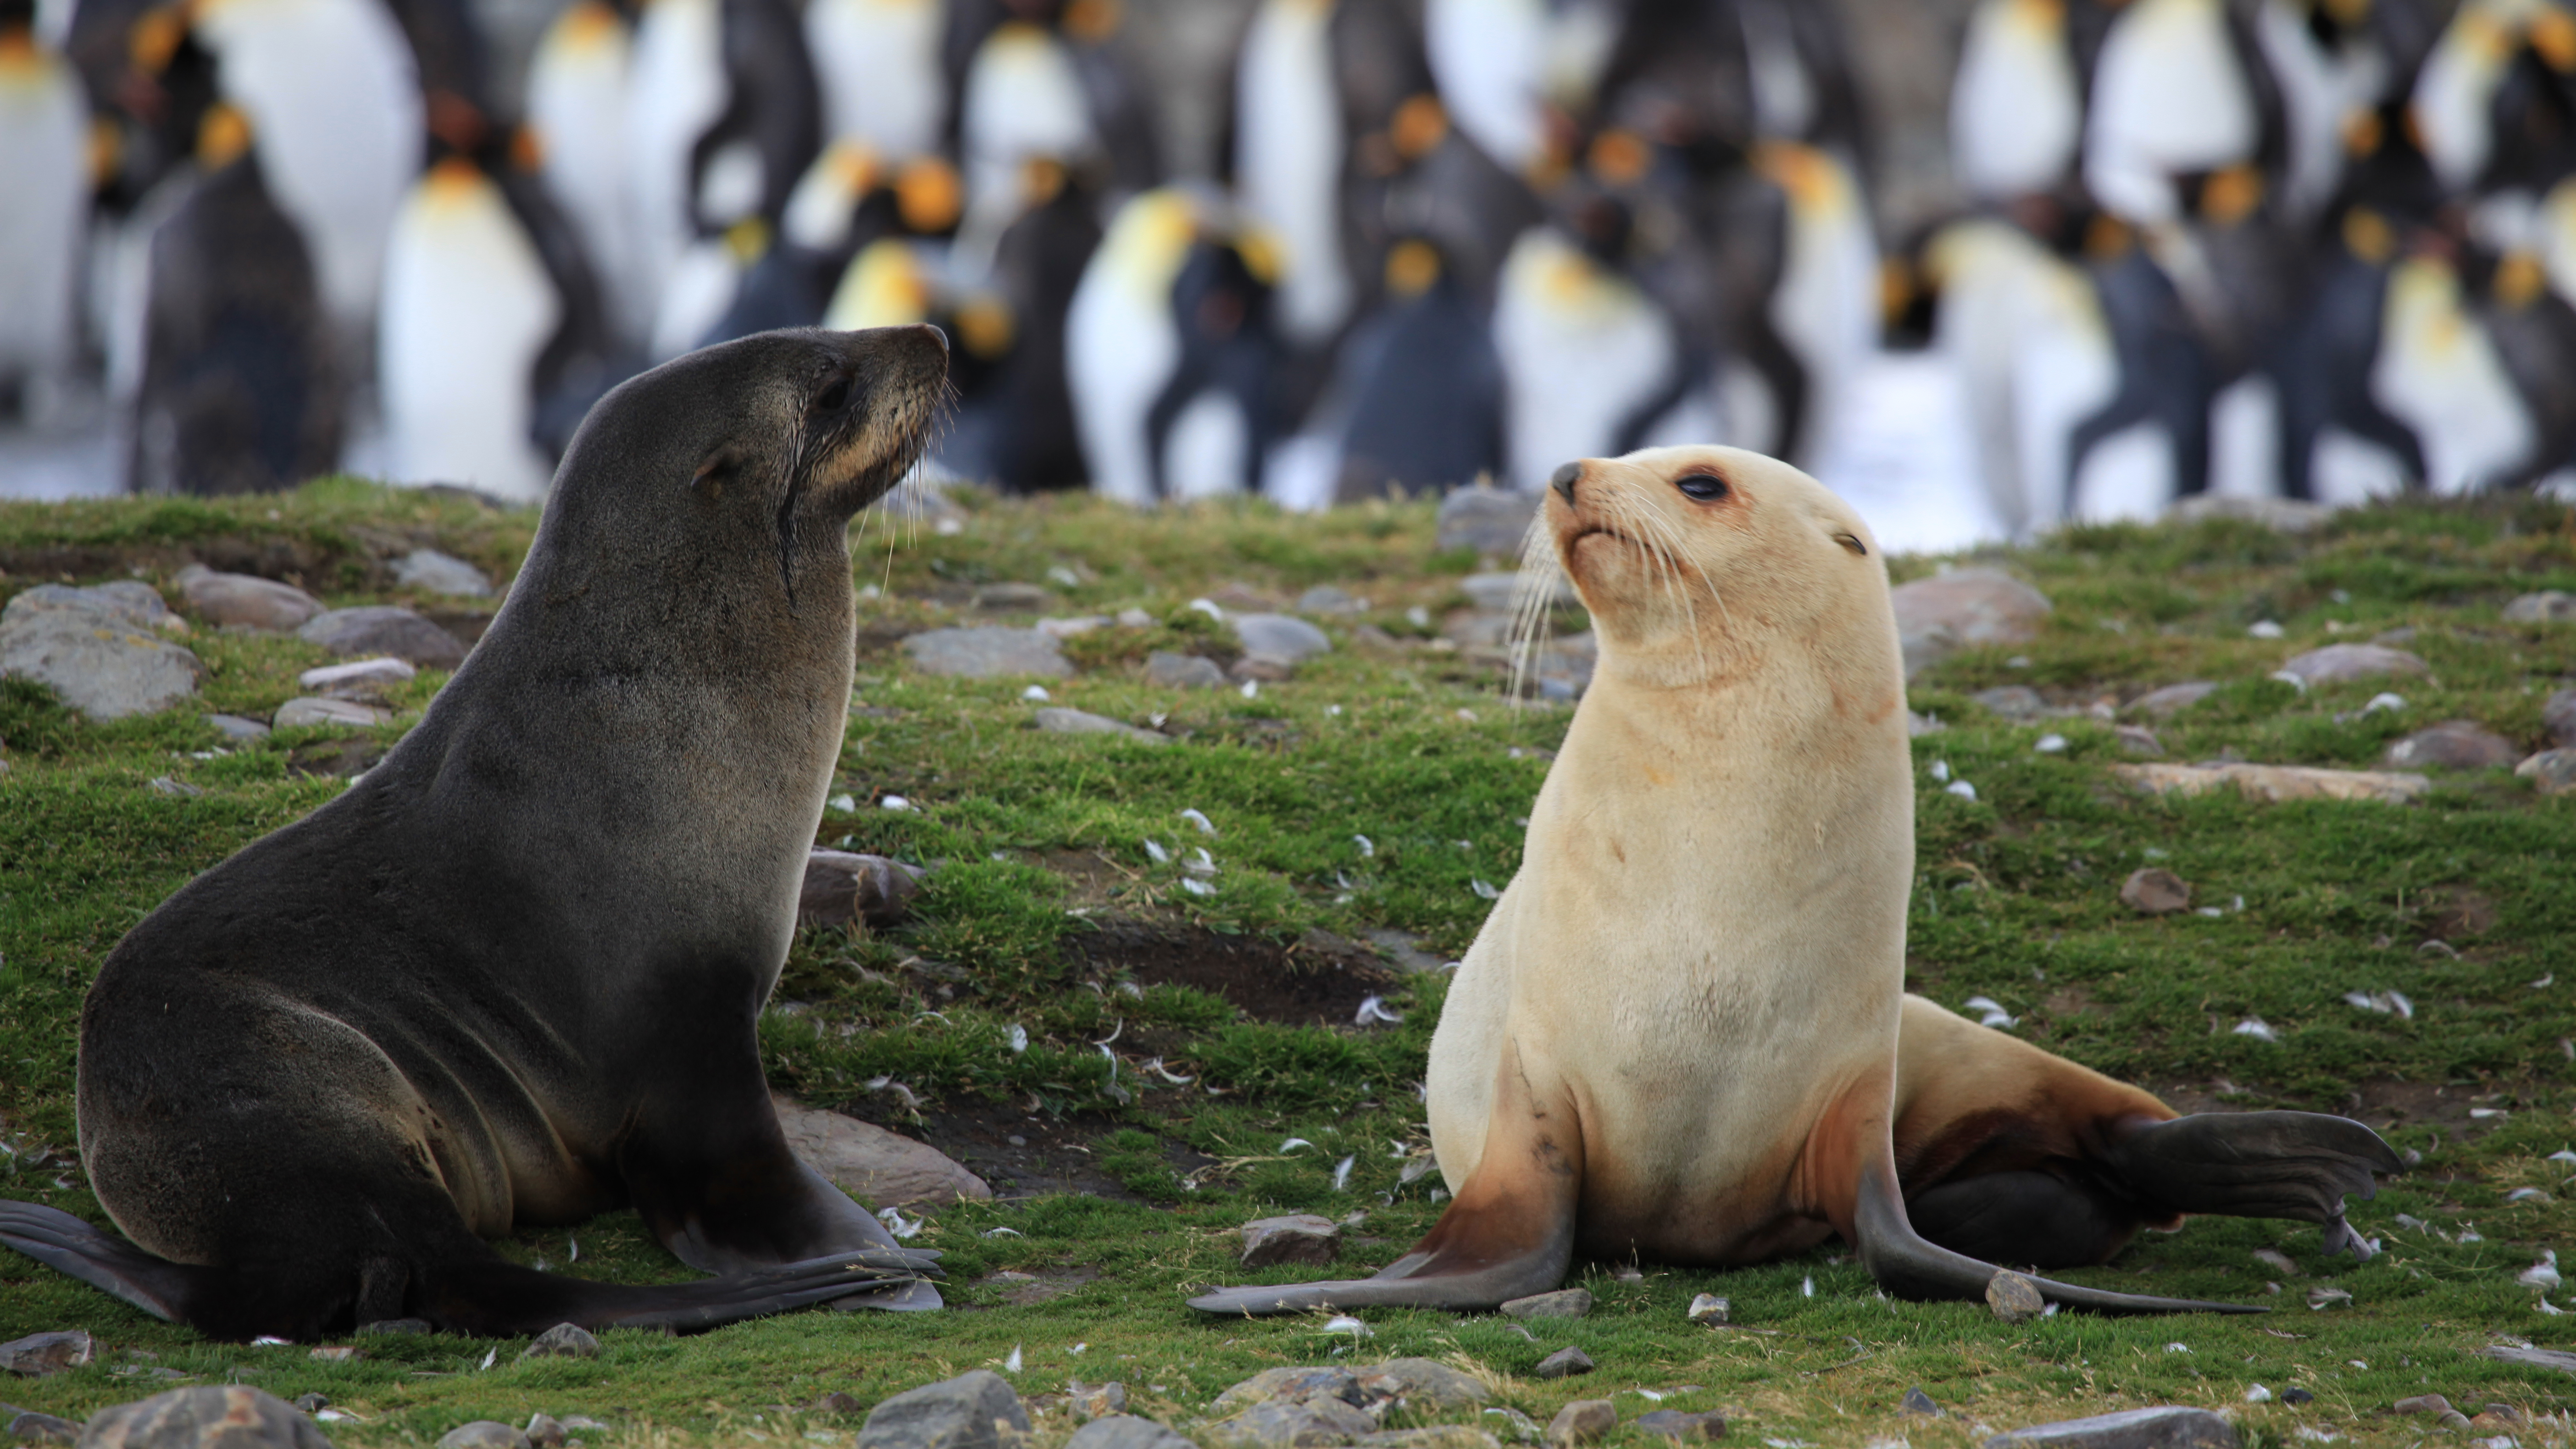
[[[1066,949],[1095,972],[1136,985],[1185,985],[1226,998],[1255,1021],[1285,1026],[1350,1026],[1363,1000],[1396,985],[1376,951],[1321,931],[1283,946],[1203,926],[1103,920]]]

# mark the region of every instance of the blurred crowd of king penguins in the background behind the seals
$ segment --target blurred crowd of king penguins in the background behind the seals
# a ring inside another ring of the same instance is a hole
[[[1891,248],[1865,13],[1257,0],[1175,180],[1118,0],[572,0],[507,88],[471,0],[0,0],[0,384],[100,374],[147,492],[363,420],[536,500],[654,361],[938,322],[956,474],[1311,508],[1814,467],[1929,348],[2014,531],[2576,477],[2568,5],[1978,0]]]

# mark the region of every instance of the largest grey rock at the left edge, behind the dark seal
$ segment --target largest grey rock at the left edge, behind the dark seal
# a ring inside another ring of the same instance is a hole
[[[52,686],[90,719],[157,714],[206,676],[196,655],[162,637],[183,627],[142,583],[41,583],[0,608],[0,676]]]

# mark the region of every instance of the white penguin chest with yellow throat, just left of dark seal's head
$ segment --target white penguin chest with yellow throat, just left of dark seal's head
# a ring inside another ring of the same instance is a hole
[[[546,263],[500,188],[464,162],[420,180],[384,263],[379,382],[399,482],[536,503],[531,369],[562,322]]]

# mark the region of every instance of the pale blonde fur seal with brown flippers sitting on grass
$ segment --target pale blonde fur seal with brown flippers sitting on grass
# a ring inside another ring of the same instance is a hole
[[[1492,1307],[1556,1287],[1577,1248],[1736,1266],[1829,1232],[1911,1297],[1981,1294],[1996,1269],[1960,1250],[2092,1263],[2184,1212],[2349,1240],[2344,1194],[2398,1168],[2367,1127],[2174,1119],[1904,993],[1904,663],[1847,503],[1757,454],[1656,449],[1558,469],[1543,529],[1600,668],[1432,1036],[1455,1201],[1373,1279],[1195,1307]]]

